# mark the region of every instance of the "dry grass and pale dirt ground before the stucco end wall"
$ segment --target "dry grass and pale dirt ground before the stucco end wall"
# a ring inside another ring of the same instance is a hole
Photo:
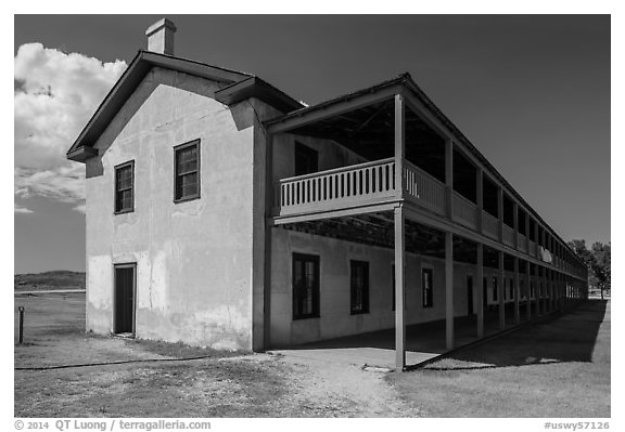
[[[414,415],[380,372],[86,335],[84,294],[15,303],[26,307],[27,342],[15,345],[15,367],[48,368],[15,370],[16,417]]]

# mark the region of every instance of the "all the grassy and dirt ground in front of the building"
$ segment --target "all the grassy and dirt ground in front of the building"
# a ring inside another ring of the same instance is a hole
[[[604,302],[406,374],[86,335],[78,293],[18,305],[16,417],[610,416]]]

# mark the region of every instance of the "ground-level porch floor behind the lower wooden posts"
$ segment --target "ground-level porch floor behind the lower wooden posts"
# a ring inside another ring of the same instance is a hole
[[[521,304],[520,312],[521,323],[525,323],[525,305]],[[534,307],[532,307],[532,317],[535,317]],[[512,306],[510,305],[506,307],[506,329],[513,326],[514,315]],[[456,348],[477,340],[477,324],[474,316],[456,317],[454,328]],[[485,312],[484,336],[487,337],[498,331],[498,312],[496,310]],[[416,366],[444,354],[448,350],[445,346],[445,320],[416,324],[406,327],[407,366]],[[319,362],[394,369],[395,329],[379,330],[305,343],[302,345],[293,345],[284,349],[270,350],[270,352]]]

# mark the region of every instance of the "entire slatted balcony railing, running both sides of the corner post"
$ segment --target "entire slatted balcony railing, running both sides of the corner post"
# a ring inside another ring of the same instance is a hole
[[[439,215],[446,215],[448,188],[422,169],[404,160],[404,196],[407,200]],[[341,167],[306,175],[282,179],[275,184],[273,214],[299,215],[367,205],[393,202],[399,199],[395,185],[395,159]],[[483,234],[498,240],[499,220],[460,194],[451,195],[454,221],[477,230],[482,217]],[[514,247],[514,230],[503,224],[502,240]],[[536,256],[536,243],[518,234],[518,249]]]

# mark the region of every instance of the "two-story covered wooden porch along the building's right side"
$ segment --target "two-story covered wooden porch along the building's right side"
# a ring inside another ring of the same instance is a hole
[[[273,348],[277,228],[393,251],[394,329],[316,342],[318,353],[348,353],[360,343],[359,354],[384,364],[392,352],[400,370],[561,307],[566,283],[549,252],[558,249],[556,237],[409,77],[291,113],[269,121],[267,131],[266,346]],[[444,263],[445,313],[431,329],[407,319],[407,253]],[[474,269],[464,319],[455,312],[457,262]],[[318,319],[323,312],[309,315]]]

